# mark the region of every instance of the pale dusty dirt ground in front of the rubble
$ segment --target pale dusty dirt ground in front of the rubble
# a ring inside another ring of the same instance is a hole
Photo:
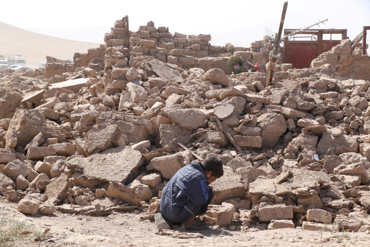
[[[48,238],[53,243],[27,240],[14,246],[370,246],[370,234],[349,233],[349,239],[338,243],[332,239],[322,242],[317,231],[277,229],[257,232],[230,231],[212,226],[201,231],[165,230],[158,235],[154,221],[139,221],[142,212],[119,212],[107,216],[84,216],[56,212],[52,216],[28,216],[17,211],[17,204],[0,201],[0,215],[14,220],[26,219],[51,228]],[[73,231],[70,231],[70,229]],[[43,229],[43,228],[41,228]],[[329,237],[324,233],[323,237]]]

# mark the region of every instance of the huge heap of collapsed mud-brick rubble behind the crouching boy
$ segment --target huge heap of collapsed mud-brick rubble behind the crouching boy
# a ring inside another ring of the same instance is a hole
[[[199,61],[215,55],[209,41],[152,22],[129,32],[124,17],[105,35],[102,70],[82,65],[81,54],[70,72],[27,84],[28,94],[14,89],[13,103],[1,101],[0,109],[2,198],[26,214],[137,210],[153,220],[166,182],[194,152],[224,164],[201,216],[206,224],[368,229],[370,81],[334,69],[359,55],[276,72],[265,87],[265,73],[203,69]],[[323,57],[337,58],[347,46],[344,40]],[[264,49],[230,47],[217,52]],[[96,54],[89,64],[102,59]],[[188,56],[194,63],[181,62]],[[14,87],[31,80],[16,77],[0,80]]]

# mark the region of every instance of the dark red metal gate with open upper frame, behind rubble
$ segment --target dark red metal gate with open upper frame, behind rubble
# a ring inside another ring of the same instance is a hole
[[[284,29],[284,36],[296,29]],[[321,53],[329,51],[340,43],[341,40],[323,40],[323,34],[342,34],[342,40],[348,39],[347,29],[310,29],[300,32],[310,35],[303,37],[317,36],[317,40],[284,40],[283,63],[293,64],[293,68],[308,68],[311,61]],[[302,38],[302,37],[301,37]]]

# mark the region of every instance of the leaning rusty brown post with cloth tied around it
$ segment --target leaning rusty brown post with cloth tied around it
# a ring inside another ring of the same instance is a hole
[[[288,2],[286,1],[283,6],[283,12],[281,14],[281,19],[280,19],[280,26],[279,26],[279,32],[275,36],[275,41],[274,43],[274,48],[272,51],[270,51],[270,56],[269,56],[269,63],[267,64],[267,68],[269,70],[268,76],[267,76],[267,81],[266,81],[266,87],[269,86],[270,82],[272,81],[272,76],[274,74],[275,66],[276,66],[276,60],[278,57],[278,51],[280,48],[280,37],[281,33],[283,31],[283,26],[284,26],[284,20],[285,20],[285,13],[286,13],[286,8],[288,7]]]

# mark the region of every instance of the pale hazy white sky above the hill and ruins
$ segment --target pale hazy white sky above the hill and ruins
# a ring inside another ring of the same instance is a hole
[[[129,29],[154,21],[171,33],[211,34],[211,44],[249,47],[261,40],[265,27],[277,32],[284,0],[261,1],[44,1],[0,0],[0,21],[65,39],[104,43],[115,20],[129,17]],[[285,29],[301,28],[329,18],[313,28],[348,29],[353,39],[370,26],[369,0],[289,0]],[[370,33],[370,31],[368,32]],[[370,37],[368,38],[370,40]]]

